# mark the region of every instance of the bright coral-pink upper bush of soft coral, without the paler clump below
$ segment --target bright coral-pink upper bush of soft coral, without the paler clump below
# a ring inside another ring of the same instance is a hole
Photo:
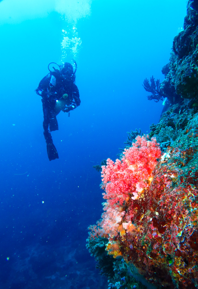
[[[131,197],[137,199],[139,193],[150,183],[152,171],[161,155],[156,140],[148,136],[137,136],[132,147],[125,149],[121,160],[107,160],[102,166],[103,198],[109,205],[122,206]]]

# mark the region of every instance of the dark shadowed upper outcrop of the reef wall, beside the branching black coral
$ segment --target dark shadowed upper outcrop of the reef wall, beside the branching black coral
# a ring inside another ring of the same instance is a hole
[[[188,1],[184,30],[173,41],[169,72],[164,69],[165,80],[161,84],[163,95],[171,103],[180,97],[197,100],[198,91],[198,4],[197,0]]]

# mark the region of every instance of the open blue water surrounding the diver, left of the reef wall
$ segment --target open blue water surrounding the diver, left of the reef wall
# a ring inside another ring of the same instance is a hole
[[[93,165],[115,160],[127,131],[158,123],[162,102],[142,83],[163,80],[185,14],[184,0],[0,1],[0,288],[105,288],[85,247],[102,212]],[[72,57],[81,105],[58,115],[49,162],[34,90],[50,62]]]

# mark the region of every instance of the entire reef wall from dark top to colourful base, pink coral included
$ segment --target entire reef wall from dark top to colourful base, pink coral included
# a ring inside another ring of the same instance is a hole
[[[198,288],[197,23],[190,0],[165,80],[150,85],[151,99],[167,97],[166,111],[150,135],[101,167],[104,212],[87,247],[108,288]]]

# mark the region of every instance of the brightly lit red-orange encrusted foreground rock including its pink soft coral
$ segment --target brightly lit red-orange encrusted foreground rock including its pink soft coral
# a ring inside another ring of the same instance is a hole
[[[186,137],[197,141],[191,128]],[[169,147],[137,136],[122,160],[102,167],[104,213],[90,239],[108,239],[106,251],[122,256],[154,284],[197,288],[198,169],[193,147]],[[193,285],[194,284],[194,285]],[[194,286],[194,287],[193,287]]]

